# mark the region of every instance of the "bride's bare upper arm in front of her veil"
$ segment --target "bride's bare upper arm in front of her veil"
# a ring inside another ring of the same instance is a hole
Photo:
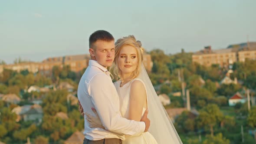
[[[146,90],[141,81],[135,80],[131,83],[128,119],[141,121],[143,106],[147,103],[146,96]]]

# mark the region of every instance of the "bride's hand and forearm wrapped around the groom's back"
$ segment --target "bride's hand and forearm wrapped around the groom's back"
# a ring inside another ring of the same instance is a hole
[[[89,123],[89,127],[90,128],[103,128],[103,125],[102,125],[102,121],[100,120],[99,116],[98,116],[98,113],[97,111],[95,110],[95,108],[92,108],[92,111],[95,113],[95,117],[88,114],[88,113],[85,113],[86,115],[86,120],[88,121]]]

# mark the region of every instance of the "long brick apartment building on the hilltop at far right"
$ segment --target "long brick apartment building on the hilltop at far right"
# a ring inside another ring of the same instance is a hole
[[[219,64],[221,67],[232,65],[234,62],[244,62],[245,59],[256,59],[256,42],[230,45],[226,49],[213,50],[211,46],[195,52],[192,61],[200,65],[211,66]]]

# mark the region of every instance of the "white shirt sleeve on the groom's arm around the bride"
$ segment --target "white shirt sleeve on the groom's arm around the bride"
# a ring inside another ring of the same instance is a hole
[[[95,75],[89,83],[89,95],[103,126],[117,134],[135,135],[144,132],[143,121],[121,117],[119,97],[112,80],[105,73]]]

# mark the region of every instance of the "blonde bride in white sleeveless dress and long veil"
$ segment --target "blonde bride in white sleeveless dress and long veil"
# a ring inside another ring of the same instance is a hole
[[[148,109],[151,120],[148,132],[126,136],[123,144],[182,144],[142,64],[143,51],[141,42],[134,36],[123,37],[115,43],[115,65],[112,67],[118,80],[114,85],[120,99],[121,115],[140,121]],[[99,118],[85,115],[92,127],[102,125]]]

